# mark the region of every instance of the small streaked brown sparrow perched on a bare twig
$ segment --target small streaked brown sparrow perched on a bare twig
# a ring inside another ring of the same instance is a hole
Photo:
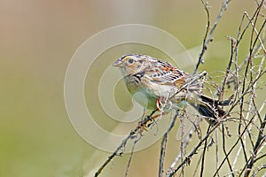
[[[113,66],[120,68],[129,93],[137,95],[134,97],[137,103],[149,110],[168,112],[182,109],[188,103],[208,123],[215,125],[226,114],[221,106],[231,104],[230,100],[219,101],[203,95],[199,78],[158,58],[127,54],[118,58]]]

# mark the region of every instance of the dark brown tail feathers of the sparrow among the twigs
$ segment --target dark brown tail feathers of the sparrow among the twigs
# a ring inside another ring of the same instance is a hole
[[[220,106],[230,105],[231,98],[222,102],[207,96],[200,96],[197,101],[190,100],[188,103],[202,116],[206,117],[208,123],[214,125],[218,122],[218,119],[223,118],[226,113]]]

